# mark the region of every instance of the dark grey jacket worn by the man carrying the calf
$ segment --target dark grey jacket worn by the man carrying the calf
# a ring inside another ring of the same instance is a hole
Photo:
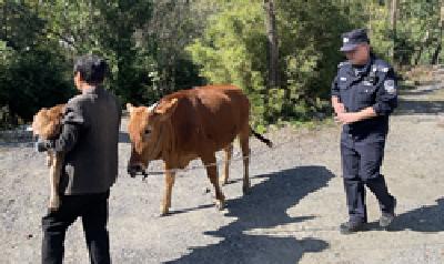
[[[115,182],[120,118],[118,99],[102,87],[83,90],[68,102],[54,145],[65,153],[61,193],[103,193]]]

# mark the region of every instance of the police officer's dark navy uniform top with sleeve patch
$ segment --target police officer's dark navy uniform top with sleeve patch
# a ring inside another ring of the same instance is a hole
[[[389,115],[397,105],[397,83],[393,68],[372,55],[357,71],[350,62],[339,65],[332,83],[332,95],[337,97],[347,112],[372,106],[377,116],[343,126],[345,133],[361,138],[385,139]]]

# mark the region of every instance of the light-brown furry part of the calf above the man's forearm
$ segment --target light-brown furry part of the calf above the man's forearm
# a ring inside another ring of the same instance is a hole
[[[33,118],[32,132],[43,139],[56,138],[61,130],[64,104],[41,109]]]

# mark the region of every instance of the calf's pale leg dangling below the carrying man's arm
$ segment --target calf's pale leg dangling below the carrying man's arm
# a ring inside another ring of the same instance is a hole
[[[57,210],[60,206],[60,194],[59,194],[59,183],[60,183],[60,174],[62,170],[63,153],[52,152],[52,162],[50,167],[50,185],[51,185],[51,194],[49,197],[49,209]]]

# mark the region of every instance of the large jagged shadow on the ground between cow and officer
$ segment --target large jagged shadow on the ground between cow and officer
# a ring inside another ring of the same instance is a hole
[[[205,235],[220,237],[218,244],[189,248],[191,252],[167,263],[296,263],[306,252],[329,247],[325,241],[290,237],[289,232],[269,232],[287,223],[314,216],[289,216],[287,210],[304,196],[326,186],[334,175],[324,166],[301,166],[259,175],[264,181],[251,194],[228,201],[226,216],[236,220]]]

